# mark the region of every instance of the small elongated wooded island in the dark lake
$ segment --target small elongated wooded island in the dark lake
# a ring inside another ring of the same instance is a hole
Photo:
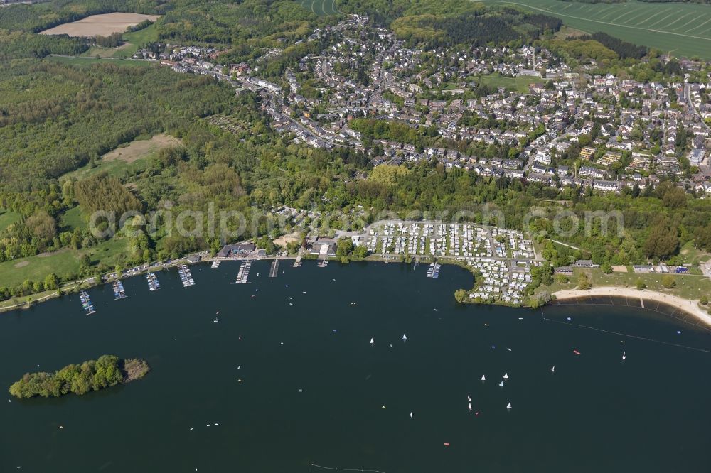
[[[21,399],[35,396],[57,398],[67,393],[82,395],[141,379],[148,371],[150,367],[142,359],[103,355],[97,360],[70,364],[55,373],[26,373],[10,386],[10,393]]]

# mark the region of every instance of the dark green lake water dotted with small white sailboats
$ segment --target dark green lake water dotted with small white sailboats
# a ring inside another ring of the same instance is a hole
[[[705,332],[634,308],[545,309],[571,325],[456,305],[471,274],[452,266],[433,280],[425,266],[282,263],[268,278],[262,261],[230,285],[238,268],[193,266],[191,288],[160,271],[155,293],[130,278],[118,301],[95,288],[90,317],[78,295],[0,315],[0,472],[711,471],[711,353],[579,325],[711,349]],[[152,371],[8,402],[37,364],[101,354]]]

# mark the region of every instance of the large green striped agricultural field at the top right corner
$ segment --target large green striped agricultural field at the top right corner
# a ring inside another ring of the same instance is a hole
[[[570,28],[603,31],[676,56],[711,59],[711,5],[690,3],[587,4],[562,0],[479,0],[556,16]]]

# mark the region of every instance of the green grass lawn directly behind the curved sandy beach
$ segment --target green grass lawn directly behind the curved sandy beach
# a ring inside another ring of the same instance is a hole
[[[536,289],[536,293],[540,293],[541,291],[554,293],[557,290],[574,289],[575,286],[577,286],[579,274],[585,272],[590,277],[593,287],[619,286],[634,288],[636,287],[637,280],[641,279],[647,285],[646,288],[648,290],[678,295],[680,298],[685,299],[699,299],[702,295],[711,297],[711,279],[705,276],[672,274],[671,276],[673,276],[676,286],[667,289],[662,286],[662,278],[666,276],[665,274],[638,274],[633,273],[631,268],[628,268],[628,270],[629,272],[627,273],[605,274],[600,269],[573,268],[573,276],[568,276],[570,279],[568,283],[559,283],[554,276],[554,283],[552,283],[551,286],[541,286]]]

